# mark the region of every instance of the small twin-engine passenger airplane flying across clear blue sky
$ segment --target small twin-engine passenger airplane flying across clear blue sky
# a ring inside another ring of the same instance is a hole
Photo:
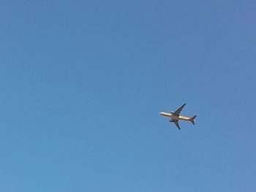
[[[195,118],[197,117],[197,115],[193,116],[192,118],[188,118],[188,117],[184,117],[184,116],[180,115],[180,113],[183,110],[185,105],[186,104],[183,104],[175,112],[159,112],[159,114],[163,115],[165,117],[169,117],[170,122],[175,123],[175,125],[178,127],[178,129],[181,129],[181,126],[179,125],[178,120],[188,120],[188,121],[191,121],[191,123],[193,123],[193,125],[195,125]]]

